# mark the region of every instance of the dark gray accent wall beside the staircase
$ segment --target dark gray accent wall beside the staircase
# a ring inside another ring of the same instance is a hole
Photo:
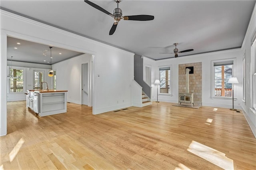
[[[140,55],[134,55],[134,80],[142,87],[144,93],[151,97],[151,87],[143,80],[143,58]]]

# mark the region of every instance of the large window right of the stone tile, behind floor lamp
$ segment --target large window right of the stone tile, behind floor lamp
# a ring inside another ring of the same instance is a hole
[[[232,97],[232,84],[228,83],[228,79],[233,75],[234,61],[212,61],[212,97]]]

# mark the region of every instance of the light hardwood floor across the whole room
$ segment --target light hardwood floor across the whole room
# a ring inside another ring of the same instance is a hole
[[[92,115],[37,117],[25,101],[8,102],[0,169],[256,169],[256,139],[242,113],[153,103]]]

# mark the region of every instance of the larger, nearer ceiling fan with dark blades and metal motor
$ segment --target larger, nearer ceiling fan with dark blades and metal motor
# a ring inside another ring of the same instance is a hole
[[[88,1],[88,0],[84,0],[84,2],[86,2],[87,4],[89,4],[90,6],[96,8],[97,10],[100,10],[101,12],[104,12],[105,14],[111,16],[114,18],[115,22],[112,26],[112,28],[110,29],[109,35],[114,34],[114,32],[116,31],[116,26],[118,24],[118,22],[123,19],[123,20],[134,20],[134,21],[149,21],[149,20],[154,20],[154,16],[151,15],[132,15],[132,16],[122,16],[122,10],[120,8],[118,8],[118,4],[119,2],[121,2],[122,0],[115,0],[117,3],[117,8],[114,9],[114,14],[111,14],[110,12],[104,10],[103,8],[101,8],[100,6]]]

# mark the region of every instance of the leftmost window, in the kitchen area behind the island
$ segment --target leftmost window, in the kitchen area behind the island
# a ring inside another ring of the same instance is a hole
[[[10,68],[10,93],[24,92],[24,70]]]

